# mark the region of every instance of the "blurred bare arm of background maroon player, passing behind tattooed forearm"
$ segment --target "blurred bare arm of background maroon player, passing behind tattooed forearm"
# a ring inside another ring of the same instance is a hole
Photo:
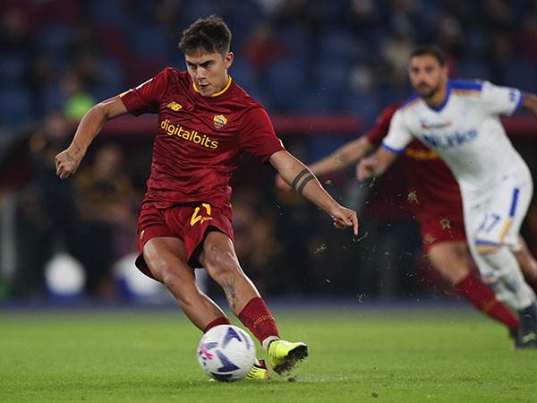
[[[366,136],[362,136],[354,141],[347,142],[324,159],[320,159],[314,164],[311,164],[311,173],[316,176],[327,175],[332,172],[337,172],[340,169],[349,167],[358,162],[364,156],[369,154],[374,149],[371,141]],[[277,187],[284,190],[291,190],[291,187],[286,184],[286,181],[281,176],[276,177]]]

